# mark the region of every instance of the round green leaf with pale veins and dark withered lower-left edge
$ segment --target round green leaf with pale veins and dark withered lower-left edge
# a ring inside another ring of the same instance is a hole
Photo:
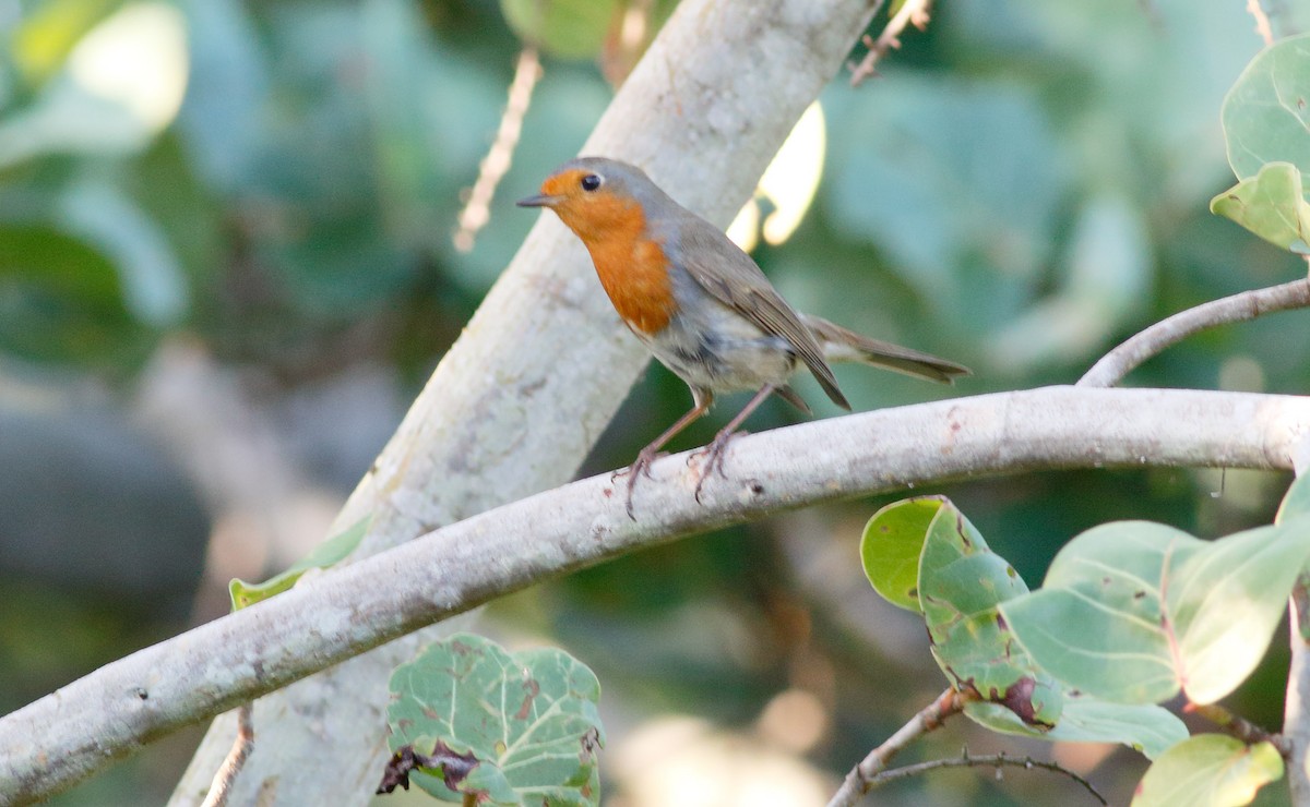
[[[458,802],[474,794],[479,804],[600,803],[600,683],[567,653],[510,654],[461,633],[398,667],[390,692],[388,742],[397,759],[406,749],[424,757],[431,751],[448,763],[414,768],[414,782],[431,795]]]

